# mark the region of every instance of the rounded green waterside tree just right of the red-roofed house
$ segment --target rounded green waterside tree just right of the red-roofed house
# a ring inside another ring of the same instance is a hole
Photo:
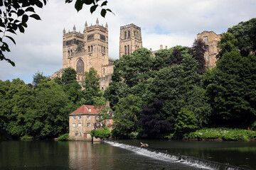
[[[113,134],[126,137],[130,132],[137,130],[138,119],[142,113],[142,98],[130,94],[121,98],[114,106],[114,130]]]

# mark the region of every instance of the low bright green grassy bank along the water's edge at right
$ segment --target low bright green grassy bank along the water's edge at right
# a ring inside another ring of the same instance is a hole
[[[188,140],[233,140],[233,141],[250,141],[256,138],[256,131],[240,130],[228,128],[204,128],[190,132],[184,137]]]

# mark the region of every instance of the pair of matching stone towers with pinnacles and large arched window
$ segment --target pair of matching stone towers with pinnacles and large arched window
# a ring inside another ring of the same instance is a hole
[[[83,33],[78,33],[73,27],[72,32],[63,30],[63,69],[72,67],[78,72],[78,81],[83,80],[85,72],[90,67],[96,69],[103,77],[106,74],[104,66],[109,64],[108,57],[108,26],[100,26],[97,19],[95,26],[87,26]]]

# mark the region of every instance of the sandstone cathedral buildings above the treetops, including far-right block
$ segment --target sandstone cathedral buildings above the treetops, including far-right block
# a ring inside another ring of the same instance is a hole
[[[206,45],[208,45],[205,52],[206,67],[214,67],[216,61],[215,55],[218,53],[217,42],[220,40],[220,35],[215,34],[213,31],[203,31],[197,37],[203,38]],[[141,28],[135,26],[133,23],[127,26],[121,26],[119,57],[131,55],[132,52],[141,47]],[[162,45],[160,46],[160,50],[162,50]],[[154,52],[152,52],[153,56]],[[100,26],[97,19],[96,25],[87,26],[87,22],[85,22],[83,33],[77,32],[75,26],[72,32],[63,30],[63,69],[68,67],[72,67],[78,73],[78,82],[83,81],[85,72],[89,72],[90,67],[93,67],[97,71],[97,74],[100,75],[100,89],[107,89],[111,81],[111,74],[114,71],[114,60],[110,59],[108,55],[107,23],[105,26]],[[64,73],[63,69],[55,72],[50,78],[61,77]]]

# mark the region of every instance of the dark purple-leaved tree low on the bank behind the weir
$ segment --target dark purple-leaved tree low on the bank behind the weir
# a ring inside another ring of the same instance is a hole
[[[154,101],[151,106],[142,108],[142,117],[139,119],[139,126],[142,126],[142,137],[156,137],[168,132],[171,128],[169,121],[159,117],[164,101]]]

